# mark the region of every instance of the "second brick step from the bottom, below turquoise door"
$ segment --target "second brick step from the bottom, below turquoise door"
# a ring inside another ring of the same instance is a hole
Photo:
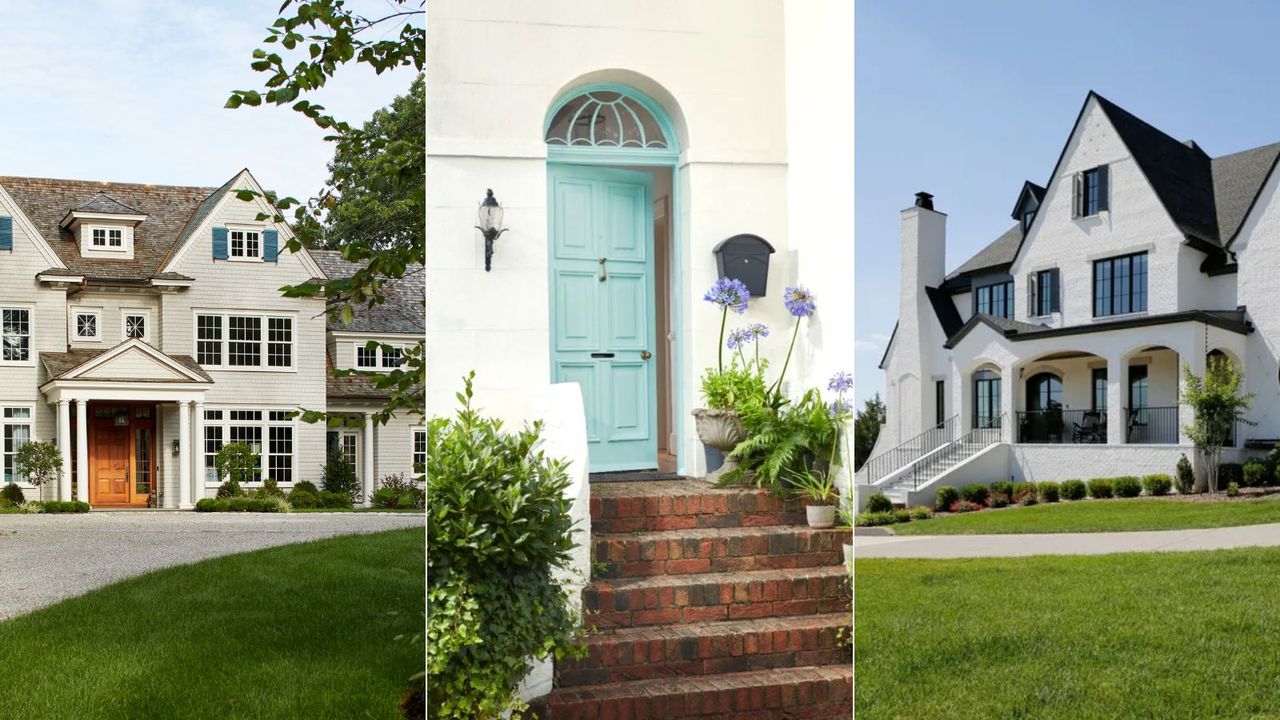
[[[588,638],[588,656],[557,664],[559,687],[849,664],[837,647],[849,612],[626,628]]]

